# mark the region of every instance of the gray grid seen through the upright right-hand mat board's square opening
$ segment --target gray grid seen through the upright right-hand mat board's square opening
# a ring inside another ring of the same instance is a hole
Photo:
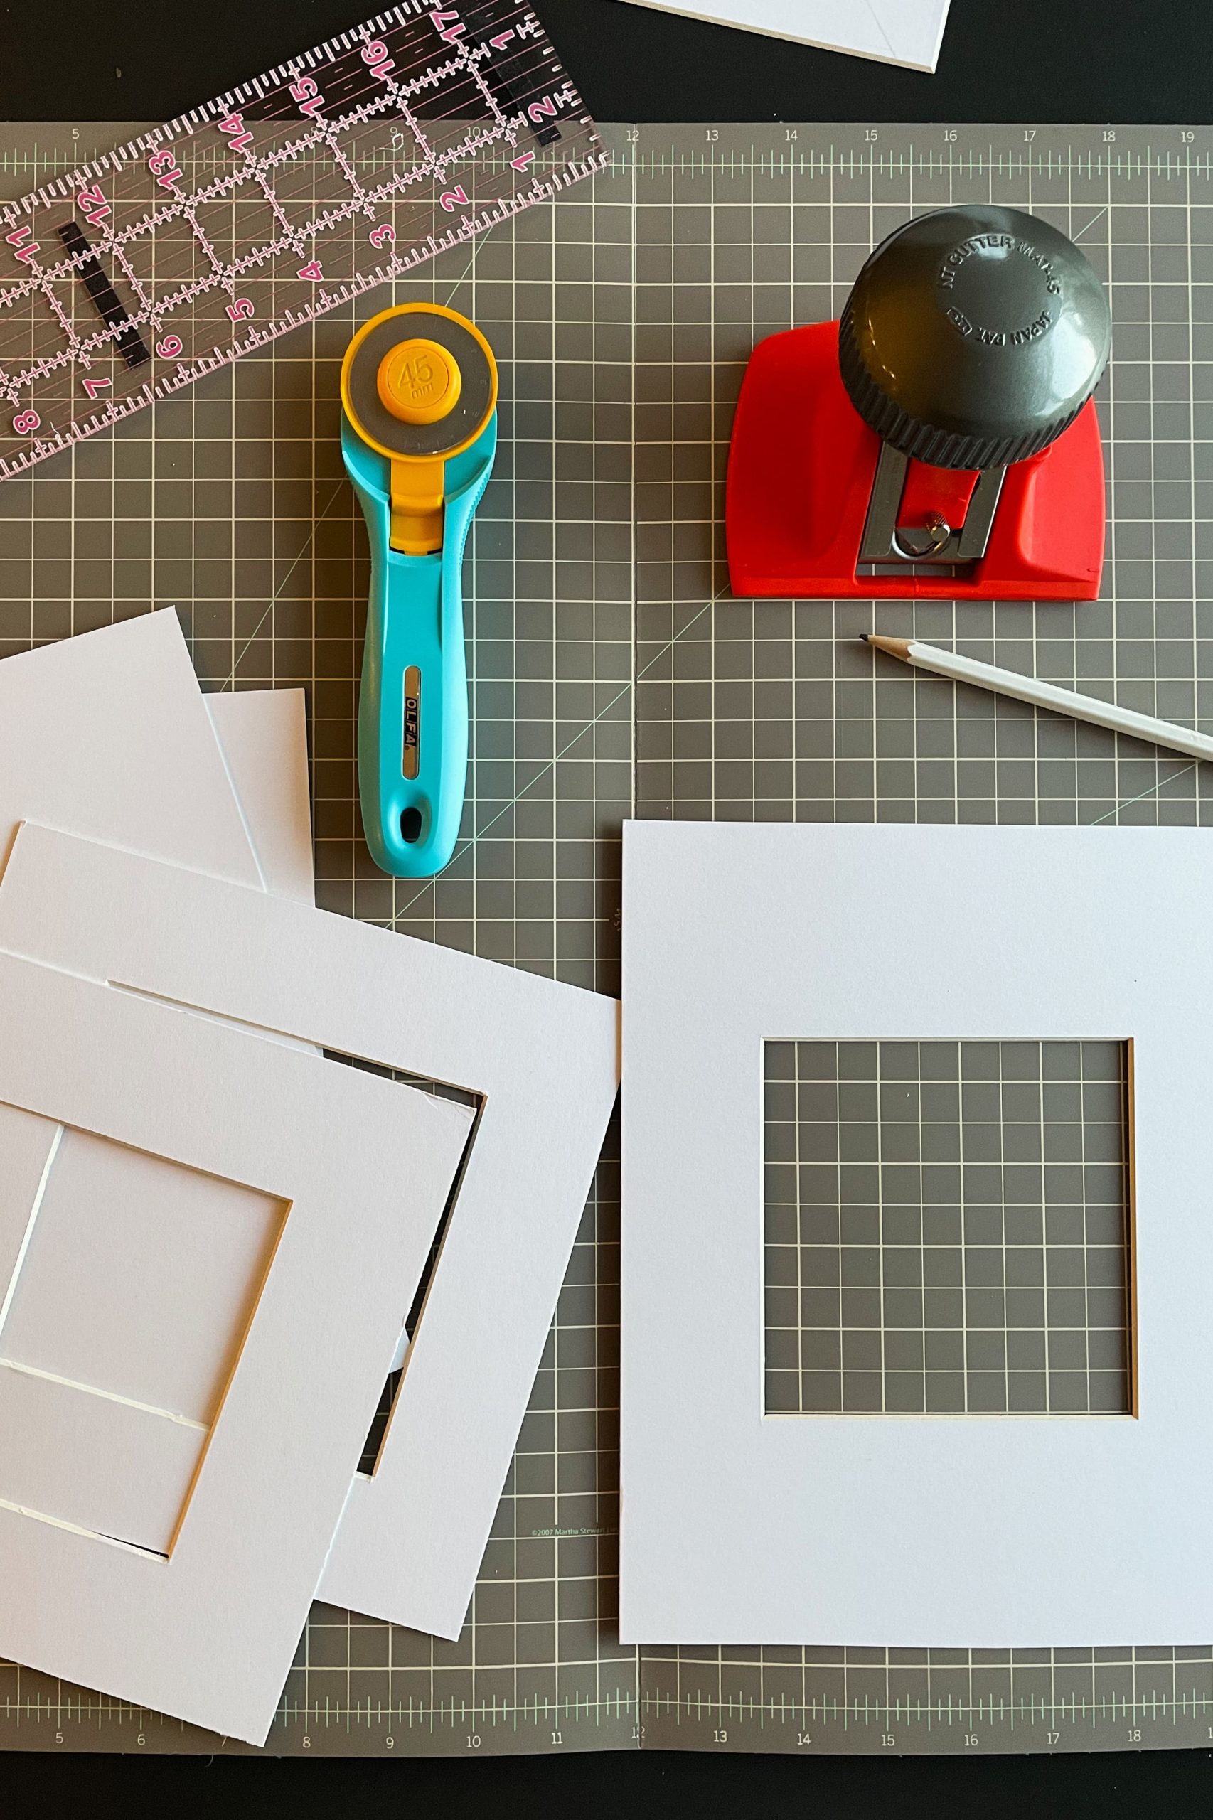
[[[1124,1043],[767,1043],[769,1416],[1131,1407]]]

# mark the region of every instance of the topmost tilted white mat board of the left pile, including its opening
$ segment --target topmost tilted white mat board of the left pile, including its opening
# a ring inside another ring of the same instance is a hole
[[[11,954],[0,1028],[0,1653],[259,1744],[470,1114]],[[180,1225],[58,1196],[78,1141]]]

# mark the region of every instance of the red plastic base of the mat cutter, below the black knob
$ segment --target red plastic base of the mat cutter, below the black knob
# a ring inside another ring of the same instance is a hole
[[[1104,448],[1095,402],[1044,453],[1005,470],[985,555],[954,568],[856,573],[880,437],[838,371],[838,324],[759,342],[729,451],[729,577],[743,599],[1095,601],[1104,568]],[[909,464],[900,524],[956,530],[974,473]]]

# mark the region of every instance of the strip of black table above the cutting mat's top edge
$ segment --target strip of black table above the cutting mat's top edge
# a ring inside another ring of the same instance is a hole
[[[0,111],[169,120],[373,11],[375,0],[0,0]],[[953,0],[934,76],[628,0],[537,0],[537,11],[599,120],[1191,126],[1213,106],[1209,0]]]

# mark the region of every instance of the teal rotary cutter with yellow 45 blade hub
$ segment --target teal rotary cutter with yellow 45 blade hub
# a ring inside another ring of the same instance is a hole
[[[341,402],[372,546],[362,828],[377,866],[428,879],[455,850],[468,775],[463,546],[497,453],[497,362],[466,317],[401,304],[350,342]]]

